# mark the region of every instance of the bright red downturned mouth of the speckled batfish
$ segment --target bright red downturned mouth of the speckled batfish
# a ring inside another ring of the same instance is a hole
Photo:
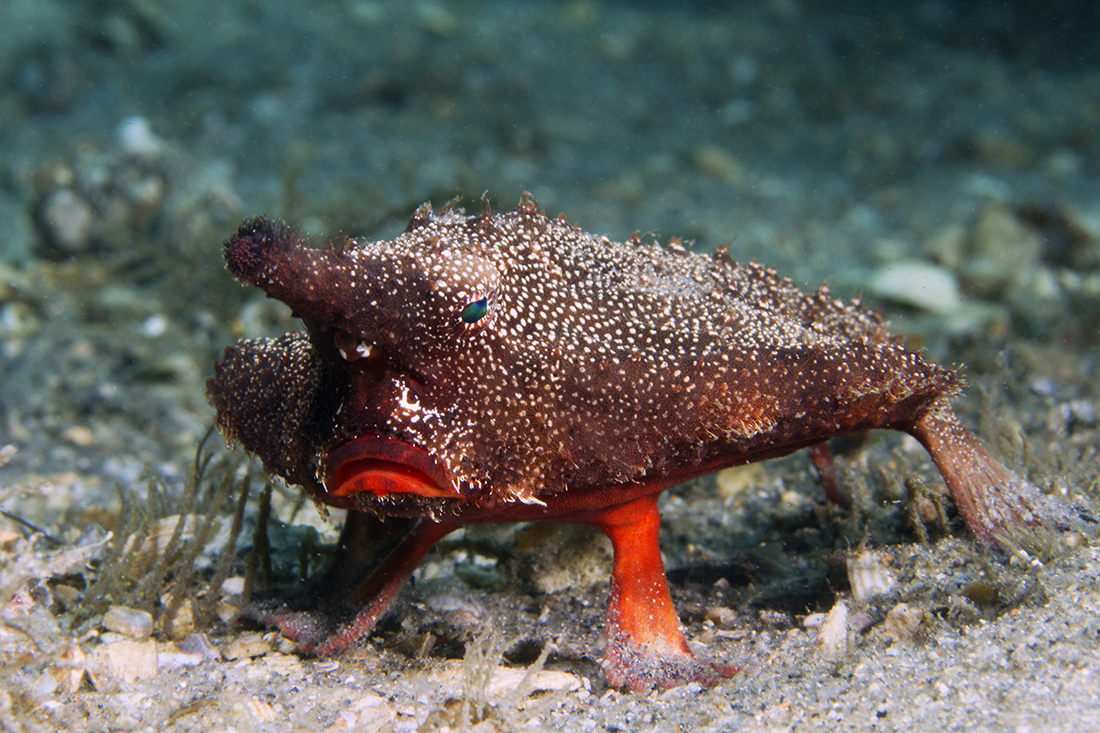
[[[333,449],[324,462],[324,485],[332,496],[462,496],[427,451],[378,435],[353,438]]]

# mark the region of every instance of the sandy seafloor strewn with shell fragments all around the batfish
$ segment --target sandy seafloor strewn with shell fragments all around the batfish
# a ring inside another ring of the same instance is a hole
[[[0,517],[0,729],[1100,730],[1097,546],[997,555],[957,523],[922,544],[905,517],[934,512],[904,482],[942,484],[897,436],[842,451],[851,512],[802,456],[669,492],[688,635],[743,667],[713,689],[608,690],[606,550],[530,528],[448,543],[336,661],[208,620],[158,626],[150,667],[101,611],[75,622],[97,541],[125,529],[120,490],[160,486],[150,522],[179,512],[221,349],[294,328],[221,266],[261,211],[388,238],[422,201],[479,211],[487,192],[505,209],[526,190],[615,239],[728,242],[966,363],[968,424],[1094,506],[1100,21],[1094,3],[1038,4],[0,4],[0,508],[52,538]],[[287,490],[274,511],[293,505]],[[254,507],[213,599],[227,617]],[[309,506],[294,522],[272,534],[284,573],[306,525],[334,536]],[[862,540],[870,599],[845,570]],[[158,623],[166,598],[144,599]],[[842,602],[847,642],[823,646],[809,614]],[[884,621],[899,603],[912,633]],[[221,653],[188,654],[194,634]],[[549,639],[557,691],[509,692],[497,667]],[[132,657],[105,653],[120,642]]]

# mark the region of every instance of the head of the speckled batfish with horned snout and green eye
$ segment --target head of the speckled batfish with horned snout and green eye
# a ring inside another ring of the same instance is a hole
[[[517,212],[546,221],[534,203]],[[227,350],[208,384],[222,430],[326,504],[537,503],[544,482],[501,460],[538,452],[541,426],[516,430],[516,412],[546,386],[540,349],[517,330],[532,296],[498,223],[425,206],[393,241],[314,247],[246,220],[226,243],[229,271],[306,335]]]

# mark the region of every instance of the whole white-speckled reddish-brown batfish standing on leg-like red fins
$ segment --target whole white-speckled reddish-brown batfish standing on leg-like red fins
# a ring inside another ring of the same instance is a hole
[[[326,641],[282,624],[318,653],[370,631],[455,527],[552,519],[615,546],[608,680],[713,681],[732,670],[688,650],[657,492],[851,430],[916,436],[983,539],[1065,523],[958,424],[954,372],[858,303],[724,250],[612,242],[525,197],[496,216],[426,205],[392,242],[322,249],[250,219],[226,259],[307,330],[227,350],[208,384],[227,437],[321,504],[421,517],[356,592],[350,626]]]

